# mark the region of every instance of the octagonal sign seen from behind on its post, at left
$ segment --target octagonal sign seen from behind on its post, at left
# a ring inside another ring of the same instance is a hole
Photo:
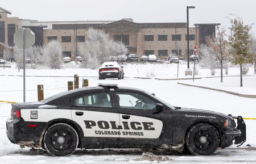
[[[19,28],[14,33],[14,44],[19,49],[23,49],[23,102],[26,102],[25,49],[30,48],[34,43],[35,33],[29,28]]]

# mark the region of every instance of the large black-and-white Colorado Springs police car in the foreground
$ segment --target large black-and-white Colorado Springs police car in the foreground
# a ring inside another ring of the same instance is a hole
[[[14,144],[42,147],[57,156],[71,155],[76,148],[154,148],[209,155],[233,140],[246,140],[241,116],[174,107],[143,90],[103,84],[13,104],[6,127]]]

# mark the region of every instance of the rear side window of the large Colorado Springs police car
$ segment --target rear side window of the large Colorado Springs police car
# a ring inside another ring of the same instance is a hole
[[[112,108],[110,94],[108,92],[81,96],[74,100],[74,104],[75,106]]]

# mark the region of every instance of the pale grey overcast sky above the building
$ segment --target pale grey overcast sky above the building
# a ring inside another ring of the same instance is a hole
[[[256,24],[254,0],[1,0],[0,7],[12,12],[10,16],[39,21],[51,20],[119,20],[133,18],[134,22],[221,23],[230,27],[226,16],[241,16],[245,24]],[[255,32],[256,25],[252,25]]]

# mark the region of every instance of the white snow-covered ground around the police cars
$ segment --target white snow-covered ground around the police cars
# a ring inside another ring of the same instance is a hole
[[[177,82],[195,83],[200,85],[210,85],[214,87],[226,89],[232,88],[234,91],[246,92],[256,94],[256,78],[255,76],[244,77],[244,86],[239,87],[239,77],[225,77],[224,83],[220,84],[220,78],[203,78],[192,80],[178,80],[178,81],[159,81],[154,77],[160,78],[175,78],[176,64],[125,64],[124,72],[125,79],[105,79],[99,80],[97,78],[98,70],[79,69],[79,68],[65,68],[57,70],[49,69],[27,69],[27,75],[57,75],[57,76],[72,76],[78,74],[79,76],[88,76],[89,86],[96,86],[97,83],[118,83],[119,86],[137,87],[148,92],[154,92],[156,96],[166,100],[166,102],[174,106],[201,108],[205,110],[212,110],[232,115],[241,115],[243,117],[256,117],[255,107],[256,100],[251,98],[241,98],[239,96],[226,94],[224,92],[217,92],[211,90],[199,89],[196,87],[189,87],[177,85]],[[184,77],[185,64],[180,65],[180,77]],[[208,69],[200,69],[200,77],[210,76]],[[23,100],[23,78],[19,76],[7,75],[22,75],[23,72],[18,72],[15,68],[0,68],[0,100],[11,102],[22,102]],[[230,68],[230,75],[239,75],[239,68]],[[249,75],[253,75],[253,67],[249,70]],[[216,74],[219,75],[218,72]],[[138,79],[132,77],[152,77],[153,79]],[[73,81],[73,77],[27,77],[26,78],[26,100],[37,100],[37,85],[44,85],[44,96],[56,94],[58,92],[67,90],[67,82]],[[80,78],[81,86],[81,78]],[[250,89],[251,88],[251,91]],[[125,152],[120,155],[120,152],[104,150],[103,152],[95,153],[93,150],[88,152],[77,152],[71,157],[50,157],[47,154],[30,152],[29,149],[21,150],[18,145],[11,144],[5,134],[5,121],[10,116],[10,104],[0,102],[0,163],[157,163],[157,161],[139,161],[143,152],[137,151],[134,153]],[[218,150],[217,153],[210,157],[203,156],[182,156],[174,154],[165,154],[170,160],[162,161],[163,163],[211,163],[219,161],[219,163],[230,162],[252,162],[256,163],[256,120],[245,120],[247,125],[247,141],[241,146],[242,149],[237,149],[232,146],[232,149]],[[246,144],[251,145],[250,151],[247,150]],[[21,153],[20,153],[21,151]],[[113,152],[113,153],[112,153]],[[119,152],[119,153],[118,153]],[[157,152],[156,152],[157,153]],[[139,158],[139,159],[138,159]],[[135,160],[136,159],[136,160]],[[135,160],[135,161],[134,161]]]

